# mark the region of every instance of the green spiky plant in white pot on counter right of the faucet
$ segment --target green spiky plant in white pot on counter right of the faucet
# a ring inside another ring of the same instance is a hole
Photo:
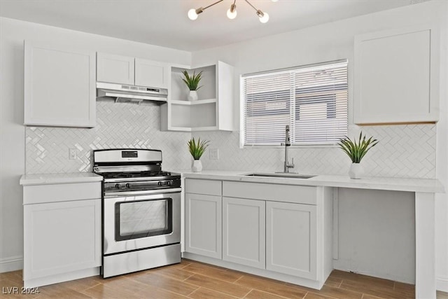
[[[373,139],[370,137],[366,139],[365,135],[363,136],[363,132],[360,132],[358,142],[356,139],[351,139],[346,137],[344,139],[339,139],[339,147],[342,148],[342,151],[346,153],[350,160],[350,170],[349,176],[351,179],[360,179],[360,176],[363,175],[363,167],[360,165],[361,160],[364,158],[365,154],[370,151],[370,148],[376,146],[379,141],[377,139]]]

